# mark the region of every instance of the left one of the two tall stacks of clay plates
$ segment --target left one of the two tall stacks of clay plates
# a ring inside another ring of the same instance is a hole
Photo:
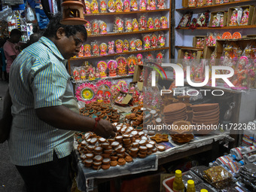
[[[163,108],[164,121],[167,124],[172,124],[174,121],[186,120],[186,104],[183,102],[172,103]]]

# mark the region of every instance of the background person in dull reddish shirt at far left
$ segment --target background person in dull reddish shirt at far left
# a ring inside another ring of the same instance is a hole
[[[18,43],[20,42],[21,35],[22,33],[20,32],[19,29],[12,29],[10,38],[4,44],[4,52],[5,57],[7,59],[6,72],[8,81],[11,64],[14,62],[14,59],[16,59],[16,57],[20,53],[20,47]]]

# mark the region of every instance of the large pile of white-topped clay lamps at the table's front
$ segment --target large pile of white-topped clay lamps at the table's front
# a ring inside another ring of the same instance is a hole
[[[114,139],[104,139],[94,133],[78,133],[78,151],[86,167],[109,169],[123,166],[133,158],[145,158],[157,151],[164,151],[164,145],[151,140],[146,131],[138,131],[124,123],[113,123],[117,127]]]

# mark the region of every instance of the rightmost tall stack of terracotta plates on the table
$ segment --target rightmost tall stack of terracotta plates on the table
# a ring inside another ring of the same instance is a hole
[[[200,105],[190,106],[193,111],[192,123],[194,125],[217,125],[219,121],[220,108],[218,103],[206,103]],[[194,130],[200,134],[209,134],[212,129],[209,130]],[[194,132],[195,133],[195,132]]]

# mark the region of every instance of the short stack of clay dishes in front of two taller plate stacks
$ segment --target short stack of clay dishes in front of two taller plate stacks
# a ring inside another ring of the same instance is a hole
[[[194,139],[193,130],[191,129],[189,121],[179,120],[173,122],[173,129],[172,129],[172,141],[178,143],[186,143],[190,142]]]

